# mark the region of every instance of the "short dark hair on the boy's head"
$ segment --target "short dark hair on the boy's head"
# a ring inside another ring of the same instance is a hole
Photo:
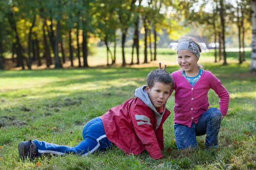
[[[152,88],[156,82],[171,85],[171,89],[174,85],[172,75],[169,72],[160,69],[151,71],[147,77],[147,85],[149,88]]]

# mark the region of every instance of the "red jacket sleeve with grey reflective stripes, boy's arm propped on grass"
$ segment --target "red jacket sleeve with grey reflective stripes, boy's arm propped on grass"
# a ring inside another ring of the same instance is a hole
[[[145,104],[144,104],[145,105]],[[134,125],[135,133],[145,146],[149,155],[153,159],[163,158],[159,147],[156,134],[153,129],[152,111],[146,105],[135,105],[133,111],[130,112],[130,118]]]

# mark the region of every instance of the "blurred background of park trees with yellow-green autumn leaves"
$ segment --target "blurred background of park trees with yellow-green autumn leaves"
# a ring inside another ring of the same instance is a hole
[[[236,51],[242,63],[251,27],[249,0],[0,0],[0,68],[150,63],[182,36],[215,62]]]

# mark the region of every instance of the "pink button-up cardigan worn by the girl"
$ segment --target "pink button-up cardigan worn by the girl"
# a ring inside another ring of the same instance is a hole
[[[173,72],[172,77],[175,82],[173,88],[175,90],[174,123],[187,125],[188,127],[191,127],[192,121],[197,123],[199,117],[208,110],[208,91],[210,88],[220,98],[219,109],[221,114],[227,115],[229,93],[220,80],[210,71],[204,70],[194,87],[183,77],[181,70]]]

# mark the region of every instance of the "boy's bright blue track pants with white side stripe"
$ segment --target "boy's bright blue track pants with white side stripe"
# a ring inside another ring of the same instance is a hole
[[[106,133],[99,117],[90,120],[83,129],[83,141],[75,147],[51,144],[44,141],[33,140],[38,147],[38,156],[44,153],[55,155],[66,155],[69,153],[87,156],[97,150],[106,150],[111,146],[111,142],[106,137]]]

